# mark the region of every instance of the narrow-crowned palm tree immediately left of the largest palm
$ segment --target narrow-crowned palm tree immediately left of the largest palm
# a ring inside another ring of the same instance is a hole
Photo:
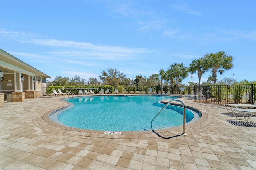
[[[198,85],[200,86],[201,84],[201,77],[204,74],[204,66],[203,66],[203,62],[202,62],[202,58],[199,59],[194,59],[192,60],[192,62],[189,64],[189,72],[191,72],[192,74],[195,73],[197,71],[197,76],[199,79]]]

